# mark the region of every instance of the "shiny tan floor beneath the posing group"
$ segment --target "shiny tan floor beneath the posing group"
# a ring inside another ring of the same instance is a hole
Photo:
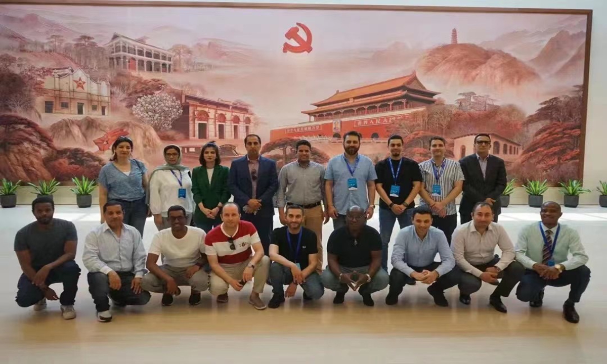
[[[500,220],[512,238],[538,218],[537,209],[529,207],[504,211]],[[56,217],[74,221],[83,241],[98,221],[98,210],[58,206]],[[21,272],[13,238],[33,217],[25,206],[0,210],[0,363],[605,363],[607,286],[601,262],[607,258],[607,209],[566,209],[564,218],[561,222],[580,231],[592,269],[577,305],[578,325],[561,317],[567,288],[547,288],[541,309],[511,295],[504,299],[508,314],[500,314],[487,306],[489,285],[472,296],[470,306],[457,301],[453,288],[446,292],[450,307],[439,308],[426,286],[416,285],[405,288],[397,306],[385,305],[387,290],[373,295],[373,308],[353,292],[344,305],[334,306],[333,292],[304,303],[299,291],[285,306],[265,311],[248,305],[250,285],[231,291],[229,303],[222,305],[205,292],[195,307],[188,306],[186,288],[171,307],[160,306],[160,295],[153,295],[147,306],[116,309],[113,322],[99,323],[82,265],[75,320],[63,320],[57,302],[43,312],[15,304]],[[377,217],[370,224],[377,227]],[[327,236],[331,228],[325,226]],[[147,248],[152,221],[146,229]],[[79,264],[81,253],[80,245]],[[270,296],[266,286],[263,298]]]

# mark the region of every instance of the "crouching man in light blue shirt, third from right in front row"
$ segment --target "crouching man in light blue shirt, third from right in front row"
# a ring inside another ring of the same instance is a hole
[[[410,282],[421,281],[430,285],[428,293],[438,306],[447,307],[444,290],[459,283],[461,272],[455,267],[453,253],[444,232],[432,226],[432,210],[416,207],[413,210],[413,225],[402,229],[396,236],[392,251],[390,291],[385,297],[386,305],[398,303],[402,288]],[[441,261],[434,261],[436,253]]]

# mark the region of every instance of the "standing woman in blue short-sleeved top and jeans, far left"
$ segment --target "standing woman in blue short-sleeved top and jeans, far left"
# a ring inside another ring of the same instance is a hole
[[[109,200],[118,201],[124,207],[124,223],[135,227],[143,237],[149,209],[146,204],[148,188],[148,169],[132,157],[133,141],[126,136],[119,136],[112,144],[110,163],[101,167],[99,172],[99,206],[101,223],[103,206]]]

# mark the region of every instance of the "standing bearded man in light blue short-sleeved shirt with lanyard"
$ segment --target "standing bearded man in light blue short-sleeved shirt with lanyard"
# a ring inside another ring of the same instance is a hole
[[[354,130],[344,135],[344,154],[329,160],[325,173],[325,191],[329,217],[333,229],[346,224],[345,215],[352,206],[365,212],[365,221],[373,217],[375,209],[375,173],[373,162],[360,155],[361,134]]]

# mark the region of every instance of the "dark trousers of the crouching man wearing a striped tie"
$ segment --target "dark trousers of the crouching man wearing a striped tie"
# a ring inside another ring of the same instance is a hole
[[[580,302],[582,294],[586,291],[590,281],[590,269],[583,265],[571,271],[563,271],[557,279],[546,280],[537,272],[526,269],[521,283],[518,284],[517,298],[523,302],[535,301],[546,286],[563,287],[571,285],[569,290],[569,301]]]

